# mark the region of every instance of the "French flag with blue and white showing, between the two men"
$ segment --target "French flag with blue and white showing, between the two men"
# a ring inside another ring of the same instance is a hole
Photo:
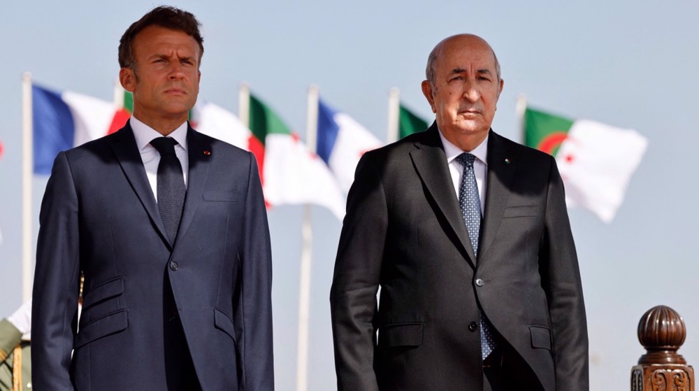
[[[361,155],[380,146],[381,141],[359,122],[318,99],[316,152],[333,171],[345,193],[354,182],[354,170]]]

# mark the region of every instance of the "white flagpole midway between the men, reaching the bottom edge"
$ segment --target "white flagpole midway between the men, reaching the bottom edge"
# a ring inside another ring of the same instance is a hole
[[[308,88],[306,145],[315,154],[318,137],[318,86]],[[308,336],[310,335],[310,280],[313,251],[311,206],[303,208],[301,266],[298,277],[298,352],[296,355],[296,391],[308,390]]]

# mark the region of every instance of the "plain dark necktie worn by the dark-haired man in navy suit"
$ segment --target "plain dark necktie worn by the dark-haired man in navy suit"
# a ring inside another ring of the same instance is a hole
[[[187,193],[185,177],[182,175],[182,164],[175,155],[175,144],[177,143],[174,138],[170,137],[153,138],[150,142],[150,145],[153,145],[160,152],[158,211],[171,246],[175,244],[180,218],[182,218],[182,207],[185,206],[185,194]]]

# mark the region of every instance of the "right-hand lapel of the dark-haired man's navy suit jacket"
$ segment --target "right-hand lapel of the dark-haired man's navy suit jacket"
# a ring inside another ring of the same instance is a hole
[[[187,156],[189,157],[189,173],[187,174],[187,197],[185,198],[185,208],[180,219],[180,229],[178,229],[177,239],[175,239],[175,247],[177,247],[177,243],[180,242],[182,236],[187,232],[187,228],[189,228],[189,224],[192,222],[192,218],[194,218],[196,208],[202,202],[210,155],[210,143],[204,141],[201,134],[188,125]]]

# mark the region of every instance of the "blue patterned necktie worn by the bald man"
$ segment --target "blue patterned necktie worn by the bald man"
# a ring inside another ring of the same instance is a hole
[[[463,215],[463,222],[466,223],[466,231],[471,239],[473,254],[478,256],[478,237],[480,236],[481,208],[480,197],[478,196],[478,185],[473,171],[473,160],[475,156],[468,152],[463,152],[456,157],[456,162],[463,166],[461,184],[459,185],[459,207]],[[474,260],[475,261],[475,260]],[[480,334],[481,334],[481,356],[485,360],[495,348],[495,340],[491,332],[491,325],[480,313]]]

